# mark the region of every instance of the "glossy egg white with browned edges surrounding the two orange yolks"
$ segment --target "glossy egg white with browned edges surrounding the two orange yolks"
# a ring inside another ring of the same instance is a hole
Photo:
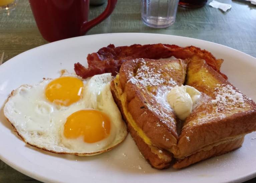
[[[62,76],[74,77],[66,72]],[[122,142],[127,135],[126,125],[110,91],[111,80],[110,73],[82,80],[83,97],[70,106],[55,105],[46,99],[45,87],[52,79],[44,79],[34,86],[22,85],[8,98],[4,114],[18,135],[32,146],[54,153],[99,154]],[[86,143],[82,137],[68,139],[64,136],[66,118],[83,109],[95,109],[108,115],[111,129],[107,138]]]

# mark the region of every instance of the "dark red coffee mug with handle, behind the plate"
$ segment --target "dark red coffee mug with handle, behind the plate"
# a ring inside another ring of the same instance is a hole
[[[106,9],[88,21],[89,0],[29,0],[37,27],[49,42],[84,35],[107,18],[117,0],[108,0]]]

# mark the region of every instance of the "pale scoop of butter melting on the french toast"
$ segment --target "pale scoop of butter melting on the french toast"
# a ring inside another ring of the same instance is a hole
[[[192,86],[175,86],[168,94],[167,101],[181,120],[190,115],[201,93]]]

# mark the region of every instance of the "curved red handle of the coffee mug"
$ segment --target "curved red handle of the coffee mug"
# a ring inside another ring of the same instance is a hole
[[[106,9],[96,18],[84,22],[80,28],[80,36],[84,35],[89,29],[106,19],[114,10],[117,0],[108,0]]]

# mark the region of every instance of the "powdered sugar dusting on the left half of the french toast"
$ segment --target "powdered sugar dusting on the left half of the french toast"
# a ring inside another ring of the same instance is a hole
[[[137,71],[134,71],[136,73],[129,71],[130,79],[127,83],[130,82],[135,85],[142,85],[142,88],[146,91],[150,88],[152,98],[150,101],[146,102],[145,106],[163,119],[161,123],[157,123],[157,127],[160,127],[163,123],[174,123],[174,120],[170,117],[172,108],[166,101],[165,95],[167,91],[171,90],[177,83],[170,77],[168,77],[169,79],[167,80],[167,77],[163,73],[171,73],[175,70],[170,67],[162,68],[161,65],[156,65],[153,62],[146,63],[144,59],[134,59],[134,61],[134,63],[138,63],[139,67]],[[161,103],[161,107],[159,107],[157,103]]]

